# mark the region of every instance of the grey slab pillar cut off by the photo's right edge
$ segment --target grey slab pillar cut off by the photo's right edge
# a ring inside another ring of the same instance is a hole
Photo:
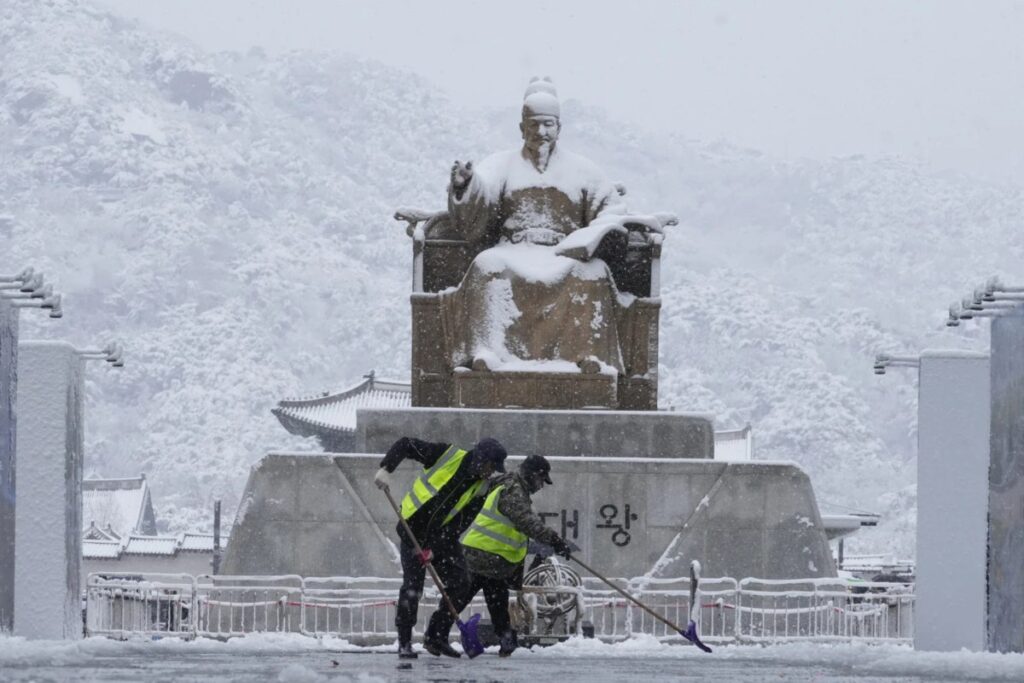
[[[1020,309],[992,321],[991,381],[988,649],[1024,652],[1024,312]]]

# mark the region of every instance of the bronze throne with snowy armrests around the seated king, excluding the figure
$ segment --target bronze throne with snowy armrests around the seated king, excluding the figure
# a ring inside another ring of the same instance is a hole
[[[620,187],[620,194],[625,189]],[[413,405],[433,408],[657,409],[659,262],[664,234],[674,216],[632,217],[628,233],[611,232],[595,256],[611,271],[620,293],[636,297],[618,321],[623,372],[480,371],[456,367],[442,339],[439,292],[457,288],[486,242],[461,234],[447,212],[399,209],[413,239]]]

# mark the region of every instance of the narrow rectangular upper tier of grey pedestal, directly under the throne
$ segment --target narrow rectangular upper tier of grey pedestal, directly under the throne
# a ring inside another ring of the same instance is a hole
[[[511,454],[713,459],[715,427],[702,415],[657,411],[359,410],[355,449],[385,453],[401,436],[460,443],[493,436]]]

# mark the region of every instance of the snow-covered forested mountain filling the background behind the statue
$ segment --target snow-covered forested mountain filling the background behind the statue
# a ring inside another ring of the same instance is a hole
[[[563,93],[568,94],[568,93]],[[0,257],[66,317],[23,338],[124,340],[88,373],[87,469],[147,474],[158,518],[208,525],[274,447],[269,413],[370,369],[409,372],[398,206],[443,205],[454,159],[515,145],[516,102],[468,112],[339,54],[206,54],[75,0],[0,6]],[[564,102],[563,144],[676,211],[663,407],[750,422],[819,500],[882,512],[860,551],[912,553],[915,388],[876,351],[986,348],[944,309],[1024,252],[1015,188],[899,159],[782,163]]]

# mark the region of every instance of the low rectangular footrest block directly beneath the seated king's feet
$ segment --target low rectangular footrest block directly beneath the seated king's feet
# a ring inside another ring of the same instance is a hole
[[[462,370],[453,378],[455,404],[462,408],[618,408],[614,375]]]

